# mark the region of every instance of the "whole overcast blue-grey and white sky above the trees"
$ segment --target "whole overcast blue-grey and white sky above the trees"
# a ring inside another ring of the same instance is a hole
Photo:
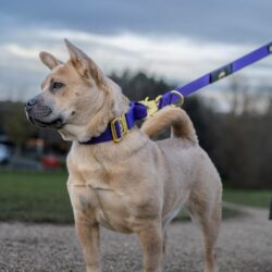
[[[271,14],[271,0],[2,0],[0,99],[39,91],[48,70],[38,52],[65,60],[63,38],[106,73],[144,70],[186,83],[272,40]],[[270,85],[271,74],[272,58],[242,76]]]

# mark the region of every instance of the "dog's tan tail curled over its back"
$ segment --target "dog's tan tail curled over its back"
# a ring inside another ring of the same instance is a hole
[[[181,108],[168,106],[148,119],[141,131],[150,138],[171,126],[171,135],[175,138],[186,138],[198,144],[195,127],[188,114]]]

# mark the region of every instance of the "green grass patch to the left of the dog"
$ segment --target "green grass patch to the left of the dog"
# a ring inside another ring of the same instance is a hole
[[[0,221],[73,222],[65,172],[0,171]]]

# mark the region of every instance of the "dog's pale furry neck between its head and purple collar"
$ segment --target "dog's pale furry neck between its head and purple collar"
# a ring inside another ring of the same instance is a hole
[[[66,124],[59,131],[64,140],[84,143],[92,137],[100,136],[108,127],[109,122],[121,116],[129,108],[129,100],[122,94],[120,87],[108,79],[103,86],[104,101],[101,108],[85,125]]]

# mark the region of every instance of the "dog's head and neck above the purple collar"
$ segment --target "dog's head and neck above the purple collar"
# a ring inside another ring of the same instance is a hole
[[[70,52],[65,63],[40,52],[51,73],[25,110],[33,124],[57,128],[64,139],[84,140],[101,134],[111,119],[125,111],[127,100],[87,54],[69,40],[65,44]]]

